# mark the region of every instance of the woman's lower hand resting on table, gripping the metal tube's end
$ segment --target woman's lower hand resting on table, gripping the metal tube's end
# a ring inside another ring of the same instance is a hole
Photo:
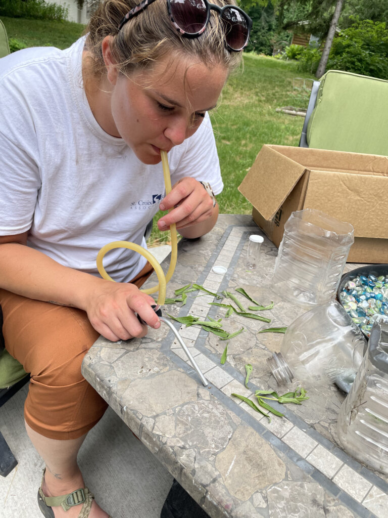
[[[85,311],[92,326],[102,336],[116,342],[141,338],[147,334],[135,312],[149,326],[157,329],[160,320],[151,307],[154,299],[142,293],[135,284],[98,279],[96,289],[88,293]]]

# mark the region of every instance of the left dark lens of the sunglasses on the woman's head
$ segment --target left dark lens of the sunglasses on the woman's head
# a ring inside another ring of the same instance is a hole
[[[207,8],[203,0],[170,0],[176,25],[187,34],[197,34],[206,25]]]

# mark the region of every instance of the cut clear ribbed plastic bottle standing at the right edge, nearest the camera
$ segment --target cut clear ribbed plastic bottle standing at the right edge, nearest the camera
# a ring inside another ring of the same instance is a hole
[[[342,447],[388,474],[388,323],[376,322],[369,347],[338,416]]]

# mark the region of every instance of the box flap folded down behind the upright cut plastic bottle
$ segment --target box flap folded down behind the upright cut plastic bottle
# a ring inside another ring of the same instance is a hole
[[[354,227],[355,237],[388,238],[388,178],[352,172],[310,171],[304,207]]]

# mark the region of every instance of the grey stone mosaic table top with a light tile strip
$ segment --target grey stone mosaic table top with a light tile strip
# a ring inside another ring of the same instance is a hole
[[[278,405],[285,416],[272,415],[271,422],[231,395],[255,400],[255,390],[281,391],[266,358],[280,350],[284,335],[258,331],[288,326],[304,311],[271,291],[277,248],[264,234],[258,269],[246,269],[252,233],[262,234],[250,215],[223,214],[211,233],[178,245],[167,297],[197,283],[237,298],[233,290],[242,287],[262,305],[275,303],[260,312],[271,324],[236,314],[226,319],[227,310],[210,305],[214,297],[202,292],[189,293],[183,306],[162,308],[163,316],[223,318],[230,333],[244,327],[229,340],[222,365],[226,341],[201,327],[174,322],[207,387],[163,323],[142,339],[110,342],[100,337],[85,356],[83,375],[211,518],[386,518],[388,478],[355,461],[337,442],[344,394],[336,386],[314,387],[299,380],[309,399],[301,406]],[[165,272],[168,261],[162,264]],[[215,265],[224,266],[226,273],[214,273]],[[356,266],[347,264],[345,271]],[[144,287],[156,283],[153,275]],[[253,368],[248,389],[246,364]]]

